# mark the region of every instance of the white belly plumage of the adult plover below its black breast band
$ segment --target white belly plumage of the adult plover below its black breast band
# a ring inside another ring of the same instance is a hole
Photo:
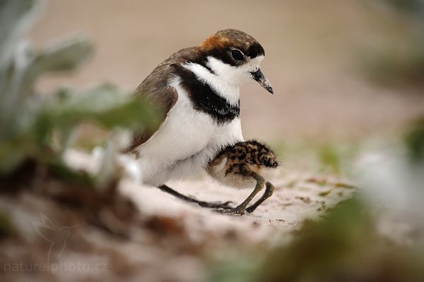
[[[208,114],[193,109],[187,94],[179,97],[153,137],[141,145],[139,166],[143,183],[160,185],[202,171],[226,145],[243,140],[240,118],[218,125]]]

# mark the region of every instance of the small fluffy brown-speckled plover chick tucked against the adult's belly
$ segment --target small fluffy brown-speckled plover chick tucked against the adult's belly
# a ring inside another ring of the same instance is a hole
[[[259,204],[271,197],[273,185],[266,178],[275,175],[278,168],[278,159],[272,150],[255,140],[237,142],[235,145],[225,147],[209,162],[207,171],[216,180],[235,188],[251,188],[254,190],[241,204],[235,208],[217,209],[221,214],[246,214],[251,213]],[[254,204],[247,207],[254,196],[264,188],[264,195]]]

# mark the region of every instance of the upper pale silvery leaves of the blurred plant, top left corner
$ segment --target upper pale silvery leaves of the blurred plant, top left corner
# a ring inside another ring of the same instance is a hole
[[[0,2],[0,140],[13,134],[15,121],[34,99],[34,84],[41,75],[71,71],[93,51],[82,38],[33,50],[20,36],[33,24],[43,1],[4,0]]]

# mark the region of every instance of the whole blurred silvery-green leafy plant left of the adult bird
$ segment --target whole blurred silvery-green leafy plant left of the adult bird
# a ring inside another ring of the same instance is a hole
[[[35,93],[35,82],[42,75],[72,71],[93,53],[83,37],[61,40],[40,50],[31,48],[22,36],[42,4],[41,0],[0,0],[0,174],[13,171],[25,159],[66,168],[61,156],[73,129],[83,121],[111,130],[155,126],[155,115],[146,103],[112,85],[78,93]],[[53,136],[59,137],[59,145],[53,146]],[[103,161],[112,163],[111,159]],[[102,179],[107,178],[104,174]]]

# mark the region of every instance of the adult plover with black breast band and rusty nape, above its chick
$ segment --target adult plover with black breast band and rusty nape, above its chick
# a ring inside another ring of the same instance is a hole
[[[220,30],[172,54],[141,82],[136,95],[164,114],[158,130],[137,133],[128,149],[142,183],[166,190],[167,180],[199,173],[221,149],[243,141],[240,85],[256,80],[273,93],[259,68],[264,54],[245,32]]]

